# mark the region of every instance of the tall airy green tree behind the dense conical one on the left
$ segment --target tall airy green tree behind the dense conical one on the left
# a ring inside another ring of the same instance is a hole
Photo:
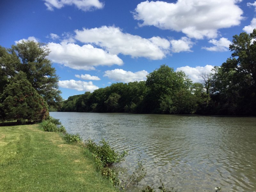
[[[47,59],[50,50],[47,45],[34,41],[22,41],[4,51],[1,48],[0,64],[4,75],[12,77],[23,71],[32,87],[43,96],[49,106],[59,108],[62,98],[58,90],[58,79],[55,68]]]

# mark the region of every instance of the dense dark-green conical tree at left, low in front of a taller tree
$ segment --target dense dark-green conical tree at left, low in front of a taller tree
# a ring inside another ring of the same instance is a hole
[[[6,86],[0,97],[2,120],[24,120],[40,122],[49,116],[47,103],[44,101],[24,74]]]

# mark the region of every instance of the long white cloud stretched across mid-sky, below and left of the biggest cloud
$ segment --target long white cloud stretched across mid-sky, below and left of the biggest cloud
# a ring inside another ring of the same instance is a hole
[[[93,43],[105,48],[109,53],[163,59],[169,52],[170,42],[159,36],[149,39],[123,33],[120,28],[102,26],[75,30],[75,38],[83,43]]]

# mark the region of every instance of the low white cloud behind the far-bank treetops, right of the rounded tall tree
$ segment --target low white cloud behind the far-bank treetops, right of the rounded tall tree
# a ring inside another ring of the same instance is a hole
[[[179,67],[176,69],[176,71],[183,71],[186,75],[188,75],[188,77],[195,83],[195,82],[201,82],[202,81],[202,77],[200,77],[200,75],[204,74],[204,73],[212,73],[212,69],[214,68],[214,66],[212,65],[206,65],[204,67],[189,67],[189,66],[185,66],[185,67]]]

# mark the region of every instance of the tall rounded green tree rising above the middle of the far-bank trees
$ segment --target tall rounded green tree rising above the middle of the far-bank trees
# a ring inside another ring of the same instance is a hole
[[[144,99],[146,113],[170,113],[176,92],[189,89],[191,80],[184,72],[175,72],[167,65],[161,65],[147,76],[148,95]]]

